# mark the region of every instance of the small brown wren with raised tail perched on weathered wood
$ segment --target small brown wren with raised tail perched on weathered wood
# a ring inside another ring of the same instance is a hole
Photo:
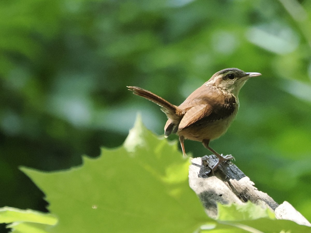
[[[175,133],[179,136],[184,157],[186,157],[184,139],[202,142],[214,153],[218,157],[218,162],[212,168],[214,172],[221,162],[234,157],[220,155],[209,146],[209,143],[227,131],[238,113],[240,89],[250,77],[259,75],[261,74],[254,72],[245,73],[237,68],[218,71],[179,106],[145,89],[132,86],[128,88],[133,91],[133,94],[161,107],[169,118],[164,127],[164,135],[168,137],[171,133]]]

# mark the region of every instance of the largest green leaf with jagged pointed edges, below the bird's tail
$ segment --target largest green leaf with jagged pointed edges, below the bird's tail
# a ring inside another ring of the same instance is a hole
[[[22,170],[59,222],[51,232],[193,232],[215,222],[188,185],[189,160],[137,118],[123,146],[67,171]]]

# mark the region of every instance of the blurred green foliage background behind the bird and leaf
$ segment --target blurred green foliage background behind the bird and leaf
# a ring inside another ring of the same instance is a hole
[[[120,146],[137,112],[163,135],[165,114],[126,85],[179,105],[237,67],[262,76],[211,146],[311,220],[310,1],[2,0],[0,16],[1,207],[47,211],[19,167],[68,169]]]

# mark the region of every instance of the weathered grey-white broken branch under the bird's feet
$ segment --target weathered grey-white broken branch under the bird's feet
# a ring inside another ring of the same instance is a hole
[[[254,183],[232,162],[219,165],[212,175],[211,167],[217,162],[215,155],[194,158],[189,168],[189,184],[201,199],[207,214],[216,218],[217,202],[221,204],[243,204],[251,201],[267,206],[275,212],[277,219],[292,220],[300,225],[311,226],[288,202],[276,203],[268,194],[259,191]]]

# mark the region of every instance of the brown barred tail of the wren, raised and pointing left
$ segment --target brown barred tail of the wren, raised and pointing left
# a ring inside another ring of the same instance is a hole
[[[176,121],[176,120],[180,121],[180,116],[176,114],[176,111],[178,110],[177,106],[169,103],[168,101],[161,98],[160,96],[153,94],[152,92],[142,89],[140,87],[132,87],[132,86],[127,86],[127,87],[130,91],[133,91],[134,95],[139,95],[159,105],[161,107],[161,110],[166,114],[168,118],[172,119],[172,121]]]

